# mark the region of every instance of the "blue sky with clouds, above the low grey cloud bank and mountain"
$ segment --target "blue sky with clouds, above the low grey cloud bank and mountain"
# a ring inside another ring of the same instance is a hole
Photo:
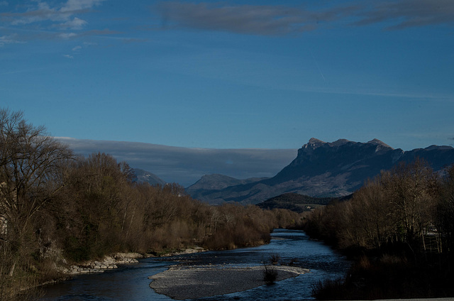
[[[0,0],[0,107],[79,146],[453,146],[453,49],[452,0]]]

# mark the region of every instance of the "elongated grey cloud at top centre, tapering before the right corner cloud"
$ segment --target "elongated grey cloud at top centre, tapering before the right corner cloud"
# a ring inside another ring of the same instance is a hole
[[[232,31],[256,35],[284,35],[311,31],[319,21],[343,14],[337,11],[309,11],[287,6],[228,5],[212,2],[160,2],[156,6],[163,26],[182,26],[211,31]]]

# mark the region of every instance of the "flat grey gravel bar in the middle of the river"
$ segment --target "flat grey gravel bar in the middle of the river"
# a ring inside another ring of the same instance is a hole
[[[276,281],[297,277],[309,270],[293,266],[272,266],[277,270]],[[176,300],[196,299],[250,290],[265,285],[263,266],[171,266],[150,276],[150,288]]]

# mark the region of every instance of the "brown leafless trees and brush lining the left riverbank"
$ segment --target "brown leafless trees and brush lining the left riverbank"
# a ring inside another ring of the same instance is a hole
[[[116,252],[255,246],[300,222],[285,209],[215,207],[177,184],[137,183],[127,163],[76,156],[22,112],[0,109],[0,300],[34,300],[64,268]]]

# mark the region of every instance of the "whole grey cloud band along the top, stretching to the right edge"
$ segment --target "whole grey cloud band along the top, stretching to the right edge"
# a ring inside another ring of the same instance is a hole
[[[454,23],[452,0],[350,1],[330,7],[226,4],[226,2],[162,1],[155,10],[163,28],[197,28],[254,35],[287,35],[312,31],[336,21],[354,26],[384,23],[403,29]]]

